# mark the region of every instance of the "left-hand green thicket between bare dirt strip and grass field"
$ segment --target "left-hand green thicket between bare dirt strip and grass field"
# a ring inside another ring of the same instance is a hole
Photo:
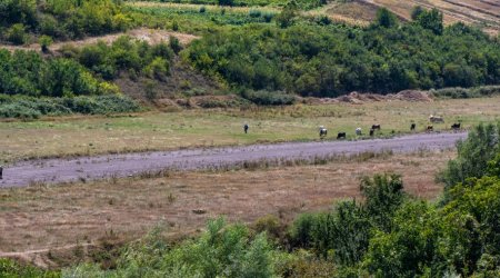
[[[0,50],[0,117],[137,111],[139,106],[118,96],[119,88],[110,81],[121,73],[166,81],[180,50],[176,40],[150,46],[126,36],[111,46],[67,47],[59,58]]]

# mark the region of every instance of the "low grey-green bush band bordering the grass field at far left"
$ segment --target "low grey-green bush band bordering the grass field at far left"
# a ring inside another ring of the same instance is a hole
[[[119,95],[73,98],[31,98],[0,95],[0,118],[37,119],[41,116],[72,113],[108,115],[136,112],[141,109],[134,100]]]

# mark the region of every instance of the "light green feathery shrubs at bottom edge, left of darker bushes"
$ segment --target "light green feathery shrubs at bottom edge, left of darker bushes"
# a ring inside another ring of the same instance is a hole
[[[207,231],[177,247],[153,230],[130,245],[114,270],[79,266],[63,271],[70,277],[272,277],[274,250],[266,234],[249,238],[240,225],[211,220]]]

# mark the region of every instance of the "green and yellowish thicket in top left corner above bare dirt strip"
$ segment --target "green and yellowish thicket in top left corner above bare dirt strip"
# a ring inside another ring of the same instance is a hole
[[[29,34],[66,40],[123,31],[134,24],[120,0],[2,0],[0,39],[22,44]]]

